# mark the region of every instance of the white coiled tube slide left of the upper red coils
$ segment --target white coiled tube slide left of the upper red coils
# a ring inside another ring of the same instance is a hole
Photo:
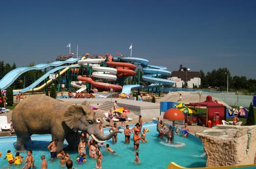
[[[92,67],[94,71],[92,73],[93,77],[107,79],[109,81],[116,81],[117,70],[115,68],[101,67],[99,63],[102,63],[104,61],[105,59],[86,59],[80,60],[77,63],[81,66],[87,66],[87,64],[89,64],[89,67]]]

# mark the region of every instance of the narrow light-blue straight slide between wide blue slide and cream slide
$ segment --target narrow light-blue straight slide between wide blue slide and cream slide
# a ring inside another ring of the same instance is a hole
[[[18,94],[19,92],[24,93],[24,92],[30,91],[31,89],[35,88],[41,81],[44,81],[46,78],[48,78],[50,73],[54,73],[54,72],[56,72],[56,71],[58,71],[60,69],[65,69],[67,67],[76,68],[76,67],[80,67],[80,66],[79,65],[70,65],[70,66],[59,66],[59,67],[56,67],[56,68],[46,72],[46,74],[42,75],[40,78],[38,78],[35,82],[33,82],[27,88],[24,88],[24,89],[19,90],[19,91],[14,91],[13,95]]]

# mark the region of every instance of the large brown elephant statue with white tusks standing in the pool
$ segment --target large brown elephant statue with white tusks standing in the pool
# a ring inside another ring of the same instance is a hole
[[[89,101],[73,105],[49,96],[33,96],[20,102],[12,111],[12,122],[17,135],[16,150],[25,150],[25,143],[32,134],[52,134],[52,140],[59,140],[59,152],[65,139],[68,150],[77,149],[78,130],[88,133],[98,143],[122,133],[118,130],[109,135],[102,134]]]

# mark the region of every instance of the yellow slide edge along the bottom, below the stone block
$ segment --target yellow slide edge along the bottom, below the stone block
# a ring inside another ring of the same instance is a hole
[[[167,169],[232,169],[232,168],[256,168],[256,164],[248,165],[230,165],[230,166],[212,166],[212,167],[198,167],[198,168],[186,168],[176,164],[175,162],[170,162]]]

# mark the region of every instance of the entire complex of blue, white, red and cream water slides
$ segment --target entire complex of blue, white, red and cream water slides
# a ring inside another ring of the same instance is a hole
[[[142,78],[141,71],[142,70]],[[49,64],[38,64],[33,67],[20,67],[7,73],[0,80],[0,89],[5,90],[8,87],[15,88],[15,80],[20,76],[24,76],[26,80],[26,72],[31,70],[44,70],[44,75],[34,82],[25,86],[23,89],[14,89],[13,94],[19,92],[37,92],[45,90],[54,80],[58,83],[58,91],[61,89],[63,81],[66,82],[66,90],[70,91],[73,87],[77,92],[84,90],[90,91],[98,89],[99,91],[119,91],[130,94],[135,89],[151,89],[156,88],[160,93],[160,88],[171,87],[174,81],[169,80],[171,72],[166,67],[148,65],[148,60],[142,58],[131,57],[112,57],[111,54],[93,56],[84,55],[81,58],[70,58],[66,61],[55,61]],[[49,75],[55,73],[55,79],[49,79]],[[70,78],[70,76],[72,76]],[[135,83],[135,77],[137,82]],[[124,81],[130,78],[133,81],[131,85],[125,85]],[[55,83],[56,83],[55,81]],[[147,85],[144,85],[146,83]],[[63,87],[62,87],[63,88]]]

